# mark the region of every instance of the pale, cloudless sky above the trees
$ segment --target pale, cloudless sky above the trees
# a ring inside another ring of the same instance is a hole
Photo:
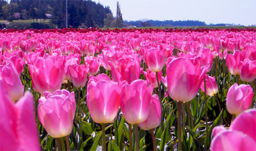
[[[116,16],[117,0],[94,0]],[[256,0],[118,0],[123,19],[199,20],[205,23],[256,24]]]

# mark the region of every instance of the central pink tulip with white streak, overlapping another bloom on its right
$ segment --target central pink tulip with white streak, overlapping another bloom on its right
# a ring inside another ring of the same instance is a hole
[[[147,86],[143,80],[124,84],[120,91],[120,107],[125,120],[130,124],[139,124],[147,120],[153,85]]]

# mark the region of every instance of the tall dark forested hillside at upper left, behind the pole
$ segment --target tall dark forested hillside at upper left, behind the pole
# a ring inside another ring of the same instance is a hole
[[[0,0],[0,20],[51,19],[51,23],[65,27],[66,0]],[[112,12],[109,6],[91,0],[68,0],[68,25],[104,27],[104,18]],[[48,14],[46,16],[45,14]]]

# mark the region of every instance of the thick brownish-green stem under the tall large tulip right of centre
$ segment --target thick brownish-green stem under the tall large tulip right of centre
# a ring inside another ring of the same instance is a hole
[[[181,113],[182,113],[182,103],[178,102],[178,151],[182,151],[182,141],[181,141]]]

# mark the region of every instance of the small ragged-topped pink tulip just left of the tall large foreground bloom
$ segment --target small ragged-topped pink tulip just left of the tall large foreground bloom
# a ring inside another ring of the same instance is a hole
[[[145,75],[147,83],[149,85],[154,84],[154,88],[158,87],[157,76],[158,76],[158,82],[161,83],[162,71],[157,72],[157,76],[154,72],[151,72],[149,69],[147,69],[147,72],[143,71],[143,73]]]

